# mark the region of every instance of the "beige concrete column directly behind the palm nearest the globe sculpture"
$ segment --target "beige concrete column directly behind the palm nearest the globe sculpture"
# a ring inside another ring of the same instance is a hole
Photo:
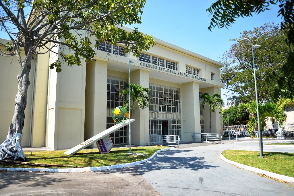
[[[149,88],[149,71],[136,70],[130,73],[130,81],[134,84],[141,84]],[[131,124],[131,144],[144,146],[149,145],[149,108],[137,110],[132,115],[135,122]]]

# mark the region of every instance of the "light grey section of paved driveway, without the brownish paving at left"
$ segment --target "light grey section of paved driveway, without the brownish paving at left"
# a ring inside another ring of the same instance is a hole
[[[294,195],[294,187],[239,169],[223,160],[225,149],[258,150],[257,142],[165,151],[140,165],[143,177],[161,195]],[[264,151],[294,148],[264,145]]]

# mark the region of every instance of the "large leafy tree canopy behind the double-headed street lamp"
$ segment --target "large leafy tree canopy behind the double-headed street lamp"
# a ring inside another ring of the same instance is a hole
[[[269,102],[275,84],[265,83],[265,79],[287,61],[290,48],[285,43],[286,35],[280,30],[280,25],[274,23],[243,31],[240,37],[231,40],[233,44],[230,49],[220,57],[220,61],[225,64],[220,69],[221,82],[240,102],[247,103],[255,99],[255,86],[252,51],[250,46],[243,43],[243,38],[261,45],[254,49],[257,96],[260,103]]]

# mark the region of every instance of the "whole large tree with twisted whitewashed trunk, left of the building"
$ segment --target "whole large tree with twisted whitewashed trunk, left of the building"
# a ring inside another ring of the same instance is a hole
[[[123,24],[141,23],[145,0],[3,0],[0,1],[0,27],[10,41],[1,43],[16,55],[21,65],[17,76],[18,92],[14,115],[5,141],[0,145],[0,159],[25,160],[21,147],[24,127],[29,72],[34,56],[51,52],[50,69],[61,72],[61,65],[81,66],[95,60],[95,48],[101,42],[125,45],[125,53],[139,56],[140,50],[154,45],[152,36],[137,28],[127,32]],[[92,37],[92,38],[91,38]],[[91,40],[94,43],[91,43]],[[24,57],[21,57],[24,53]],[[55,56],[55,57],[54,57]]]

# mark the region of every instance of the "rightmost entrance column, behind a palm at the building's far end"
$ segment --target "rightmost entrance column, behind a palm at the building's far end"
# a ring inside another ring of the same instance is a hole
[[[213,93],[220,94],[220,88],[218,87],[208,87],[203,88],[202,92],[207,92],[212,95]],[[209,133],[209,106],[205,105],[203,110],[204,118],[204,133]],[[223,117],[222,114],[219,115],[219,110],[216,109],[216,113],[211,113],[211,133],[212,134],[223,134]]]

